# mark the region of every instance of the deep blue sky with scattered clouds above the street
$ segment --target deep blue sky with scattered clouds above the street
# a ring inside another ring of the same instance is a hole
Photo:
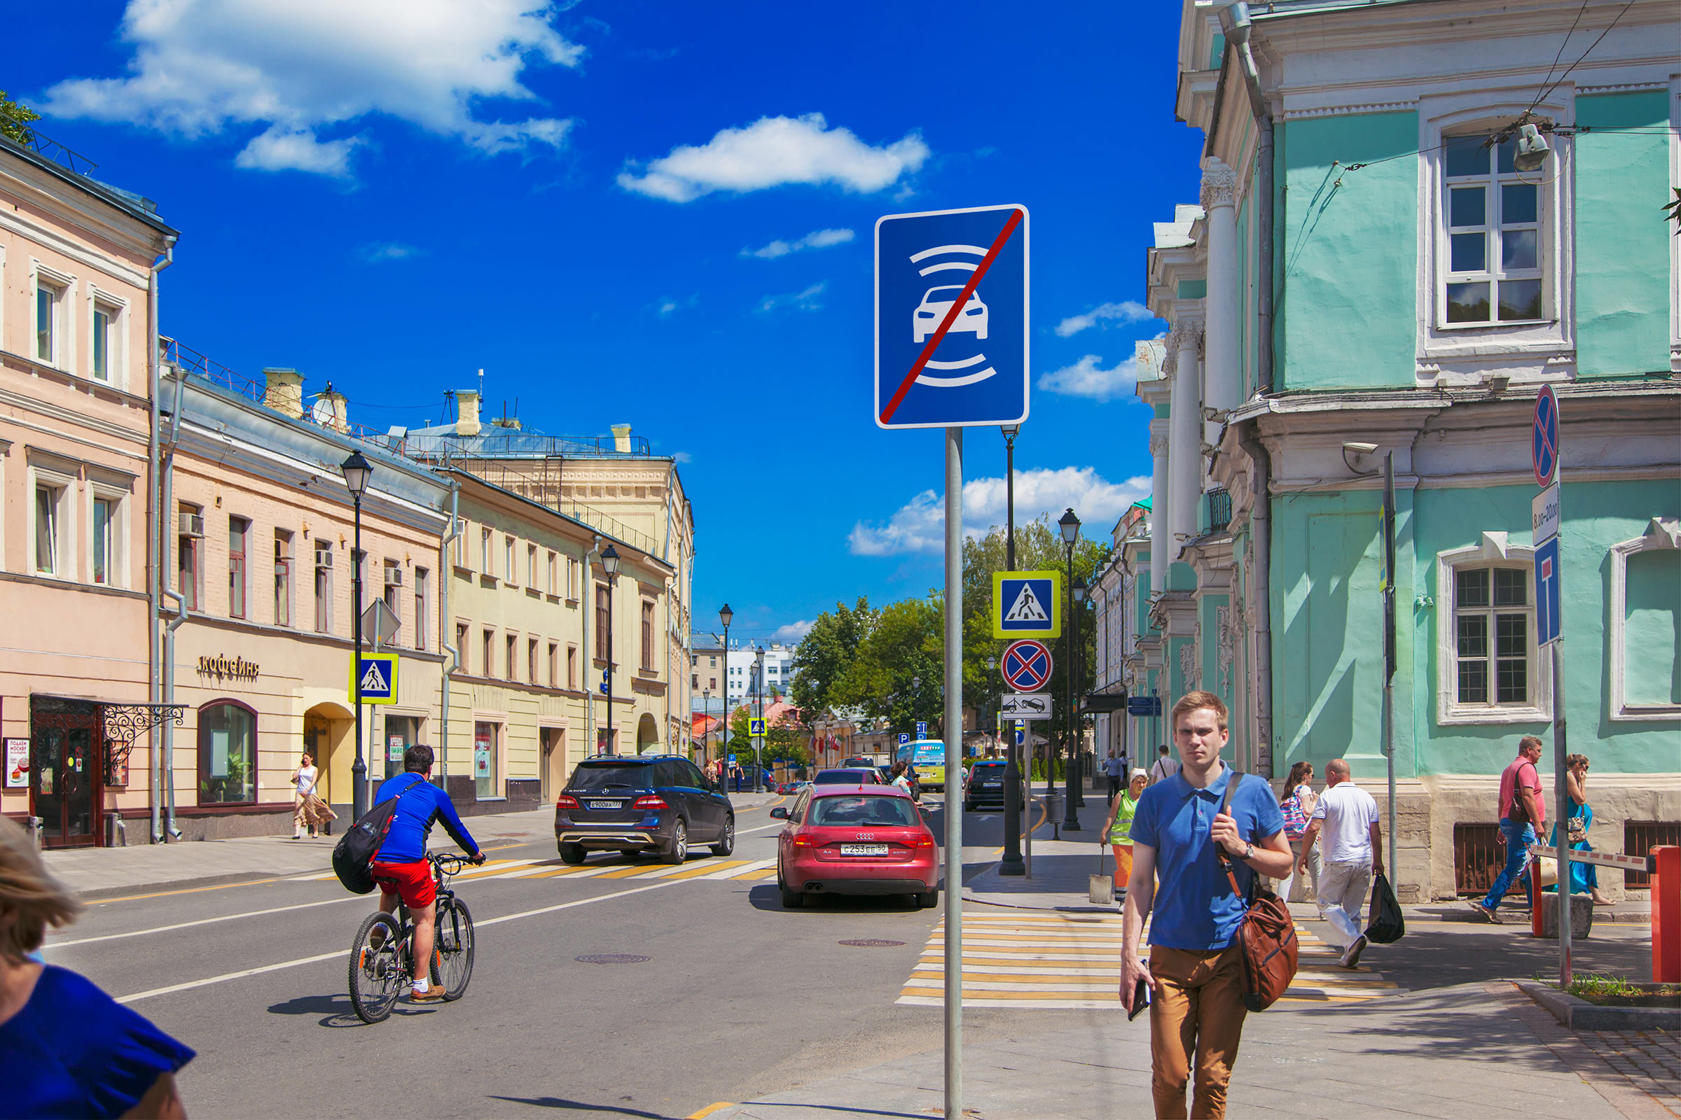
[[[84,0],[10,17],[5,89],[182,230],[163,329],[351,418],[484,368],[556,435],[682,458],[696,618],[793,636],[940,581],[941,438],[871,421],[883,213],[1032,212],[1019,517],[1145,492],[1151,222],[1195,201],[1178,5]],[[970,430],[967,526],[1002,522]]]

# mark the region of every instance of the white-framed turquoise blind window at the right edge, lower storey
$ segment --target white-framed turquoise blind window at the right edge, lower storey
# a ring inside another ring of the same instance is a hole
[[[1610,719],[1681,719],[1681,517],[1610,549]]]

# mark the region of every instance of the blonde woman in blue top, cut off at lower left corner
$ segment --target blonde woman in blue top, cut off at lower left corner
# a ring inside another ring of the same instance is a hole
[[[0,1117],[183,1120],[175,1073],[193,1051],[69,969],[42,964],[47,927],[81,905],[0,818]]]

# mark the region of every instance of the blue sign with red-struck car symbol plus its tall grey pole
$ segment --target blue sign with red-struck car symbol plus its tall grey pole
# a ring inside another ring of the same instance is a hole
[[[876,220],[881,428],[945,428],[945,742],[963,744],[963,428],[1027,420],[1027,208]],[[963,814],[945,813],[945,1115],[963,1120]]]

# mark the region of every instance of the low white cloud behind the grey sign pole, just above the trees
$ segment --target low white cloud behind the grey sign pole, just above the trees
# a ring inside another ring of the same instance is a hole
[[[1041,514],[1056,521],[1064,509],[1074,507],[1086,524],[1088,536],[1108,536],[1138,499],[1150,494],[1150,475],[1125,482],[1109,482],[1093,467],[1062,467],[1052,470],[1019,470],[1015,474],[1015,524],[1025,524]],[[978,537],[992,526],[1002,526],[1005,517],[1005,480],[972,479],[963,484],[963,534]],[[903,552],[940,552],[945,547],[945,497],[923,490],[901,505],[886,522],[857,522],[847,534],[854,556],[898,556]]]

